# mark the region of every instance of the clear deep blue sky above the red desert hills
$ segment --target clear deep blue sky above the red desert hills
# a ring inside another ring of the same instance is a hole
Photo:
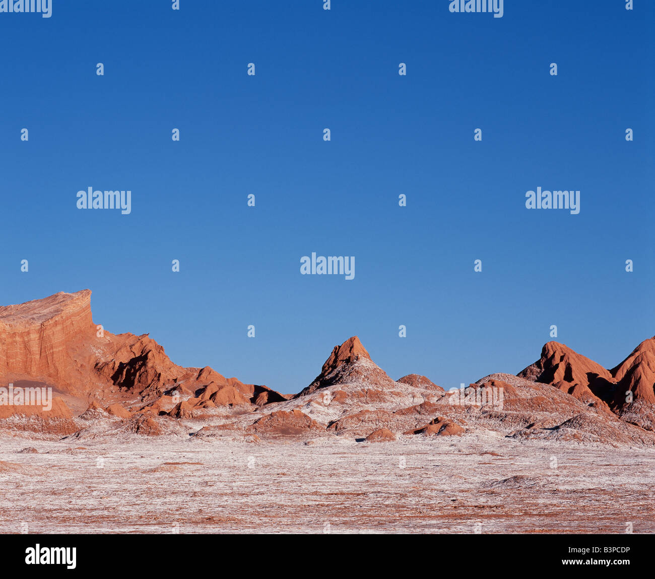
[[[351,335],[445,388],[516,373],[552,324],[612,367],[655,333],[655,5],[635,4],[0,14],[0,303],[89,288],[107,331],[282,392]],[[132,213],[78,210],[88,187]],[[580,190],[580,214],[525,209],[536,187]],[[354,280],[301,275],[311,252],[354,255]]]

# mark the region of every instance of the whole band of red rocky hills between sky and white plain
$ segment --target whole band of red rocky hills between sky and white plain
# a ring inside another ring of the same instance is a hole
[[[283,396],[208,366],[176,365],[147,334],[104,331],[92,321],[90,295],[85,289],[0,307],[0,386],[41,384],[56,394],[48,410],[0,405],[0,427],[76,438],[193,433],[373,442],[394,441],[394,432],[414,440],[496,432],[655,445],[655,338],[612,370],[549,342],[516,376],[492,374],[444,392],[417,374],[392,380],[353,336],[334,346],[309,386]]]

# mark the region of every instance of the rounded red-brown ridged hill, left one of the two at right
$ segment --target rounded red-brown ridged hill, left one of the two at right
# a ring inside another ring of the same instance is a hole
[[[517,376],[546,384],[568,382],[582,386],[589,386],[597,378],[612,381],[610,371],[559,342],[545,344],[541,350],[541,358]]]

